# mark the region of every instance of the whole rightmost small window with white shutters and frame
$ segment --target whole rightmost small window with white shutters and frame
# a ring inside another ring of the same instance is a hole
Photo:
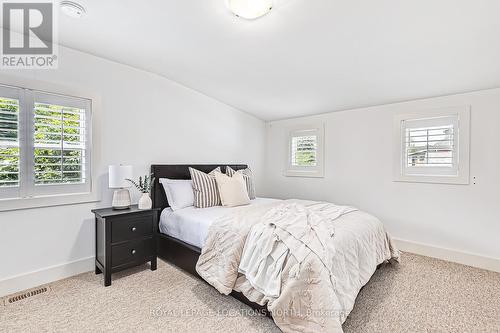
[[[468,108],[397,116],[396,180],[467,183]]]

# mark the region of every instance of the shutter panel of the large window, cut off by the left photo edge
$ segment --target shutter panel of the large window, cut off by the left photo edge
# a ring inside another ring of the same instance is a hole
[[[21,185],[21,89],[0,86],[0,197],[16,197]]]

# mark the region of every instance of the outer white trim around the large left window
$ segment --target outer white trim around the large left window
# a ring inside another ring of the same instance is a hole
[[[68,98],[86,99],[90,101],[90,129],[89,129],[89,147],[90,147],[90,192],[61,193],[61,194],[37,194],[32,197],[0,198],[0,212],[60,205],[73,205],[98,202],[101,200],[100,180],[97,175],[97,166],[100,156],[100,147],[95,145],[99,142],[100,123],[99,110],[101,99],[95,91],[81,89],[79,86],[71,84],[59,85],[45,81],[25,79],[20,77],[6,76],[0,85],[14,89],[36,90],[38,92],[60,95]],[[28,128],[25,126],[25,128]],[[22,167],[22,164],[21,164]],[[22,195],[22,194],[21,194]]]

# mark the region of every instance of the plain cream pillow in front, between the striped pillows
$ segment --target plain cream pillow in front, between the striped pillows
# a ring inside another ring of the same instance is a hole
[[[250,203],[243,174],[237,172],[233,177],[229,177],[221,172],[215,172],[215,181],[223,206],[235,207]]]

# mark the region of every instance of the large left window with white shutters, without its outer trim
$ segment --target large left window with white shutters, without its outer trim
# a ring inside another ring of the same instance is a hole
[[[90,106],[87,99],[0,86],[0,197],[91,191]]]

